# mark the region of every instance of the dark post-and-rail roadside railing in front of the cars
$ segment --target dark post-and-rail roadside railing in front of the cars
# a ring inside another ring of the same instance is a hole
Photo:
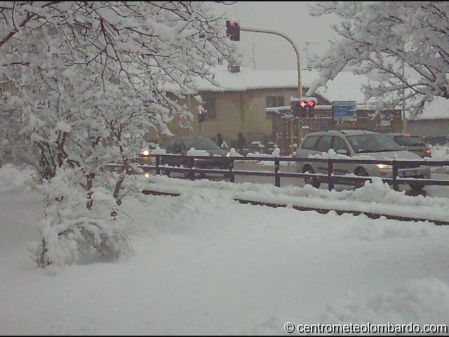
[[[223,157],[209,157],[209,156],[180,156],[177,154],[152,154],[156,159],[156,165],[138,165],[141,169],[154,169],[156,174],[161,174],[161,170],[169,170],[173,172],[184,172],[191,180],[194,180],[194,173],[223,173],[229,176],[231,183],[235,182],[236,175],[243,176],[267,176],[274,177],[274,184],[276,187],[281,186],[281,178],[313,178],[318,177],[323,183],[328,183],[328,190],[335,188],[335,183],[349,183],[356,184],[358,181],[371,180],[371,176],[340,176],[334,174],[334,164],[384,164],[391,165],[392,178],[382,178],[384,183],[393,185],[394,190],[399,190],[399,185],[438,185],[449,186],[449,180],[435,180],[425,178],[401,178],[399,177],[399,169],[404,166],[449,166],[449,161],[431,161],[431,160],[374,160],[374,159],[321,159],[321,158],[286,158],[286,157],[227,157],[228,169],[199,169],[195,167],[195,159],[203,161],[223,161]],[[161,159],[176,158],[187,164],[183,166],[162,166]],[[268,171],[236,171],[234,170],[234,163],[236,161],[274,161],[274,172]],[[289,173],[280,172],[280,163],[282,161],[295,162],[321,162],[327,164],[327,174],[321,173]],[[408,167],[410,169],[410,167]],[[413,168],[412,168],[413,169]]]

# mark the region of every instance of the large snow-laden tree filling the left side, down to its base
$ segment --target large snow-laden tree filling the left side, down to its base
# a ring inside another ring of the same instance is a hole
[[[234,44],[207,3],[0,2],[0,78],[16,88],[2,95],[0,128],[43,179],[41,265],[70,262],[81,246],[128,250],[116,216],[131,159],[151,128],[169,133],[189,116],[177,99],[196,92],[196,77],[213,81],[220,58],[233,60]],[[102,169],[111,162],[121,172]]]

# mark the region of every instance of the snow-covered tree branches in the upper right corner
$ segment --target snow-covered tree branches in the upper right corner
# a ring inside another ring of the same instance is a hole
[[[367,100],[396,107],[405,99],[420,114],[436,97],[449,98],[448,1],[323,1],[309,7],[311,15],[335,14],[337,41],[314,64],[319,86],[344,68],[372,79]]]

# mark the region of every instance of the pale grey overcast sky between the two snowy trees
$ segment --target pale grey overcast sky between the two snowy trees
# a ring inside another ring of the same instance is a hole
[[[303,50],[309,41],[309,55],[323,54],[329,40],[336,37],[330,25],[338,22],[335,16],[314,18],[309,15],[308,4],[314,2],[249,2],[234,5],[217,4],[217,11],[227,18],[237,19],[241,27],[276,30],[293,39],[300,48],[301,67],[307,66],[307,53]],[[293,47],[282,37],[272,34],[241,32],[239,49],[245,53],[245,65],[253,67],[253,48],[257,70],[295,70]],[[319,44],[315,44],[318,42]]]

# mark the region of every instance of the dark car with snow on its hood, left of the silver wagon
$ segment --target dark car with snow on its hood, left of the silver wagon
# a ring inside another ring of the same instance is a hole
[[[182,137],[171,141],[166,148],[167,154],[179,154],[187,156],[190,150],[202,150],[204,154],[210,157],[220,157],[215,159],[194,159],[194,168],[196,169],[229,169],[229,160],[227,159],[227,151],[220,149],[217,144],[206,137]],[[203,155],[195,154],[195,155]],[[188,158],[163,157],[162,165],[168,166],[185,166],[189,167]],[[166,175],[170,174],[170,169],[165,169]],[[187,176],[187,174],[186,174]]]

